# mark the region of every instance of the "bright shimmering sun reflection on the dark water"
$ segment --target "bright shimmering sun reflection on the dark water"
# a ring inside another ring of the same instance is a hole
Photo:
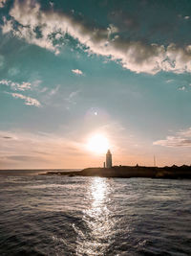
[[[89,207],[84,211],[85,229],[77,231],[77,255],[105,255],[114,239],[115,222],[109,210],[111,181],[107,178],[91,178],[87,187]]]

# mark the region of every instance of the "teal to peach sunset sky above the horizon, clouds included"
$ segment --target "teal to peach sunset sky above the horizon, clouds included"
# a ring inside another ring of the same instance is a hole
[[[190,165],[190,28],[190,0],[0,0],[0,169]]]

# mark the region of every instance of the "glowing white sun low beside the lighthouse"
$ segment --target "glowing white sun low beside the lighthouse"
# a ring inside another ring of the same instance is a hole
[[[87,149],[95,153],[105,153],[109,149],[109,141],[103,134],[94,134],[88,140]]]

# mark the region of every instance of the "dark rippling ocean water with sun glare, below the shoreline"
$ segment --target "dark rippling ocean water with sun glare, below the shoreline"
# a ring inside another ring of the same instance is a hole
[[[0,255],[191,255],[191,180],[26,174],[0,173]]]

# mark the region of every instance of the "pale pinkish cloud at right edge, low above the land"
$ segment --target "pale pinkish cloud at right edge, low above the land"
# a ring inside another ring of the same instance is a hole
[[[158,140],[153,143],[163,147],[191,147],[191,128],[181,130],[175,136],[167,136],[164,140]]]

